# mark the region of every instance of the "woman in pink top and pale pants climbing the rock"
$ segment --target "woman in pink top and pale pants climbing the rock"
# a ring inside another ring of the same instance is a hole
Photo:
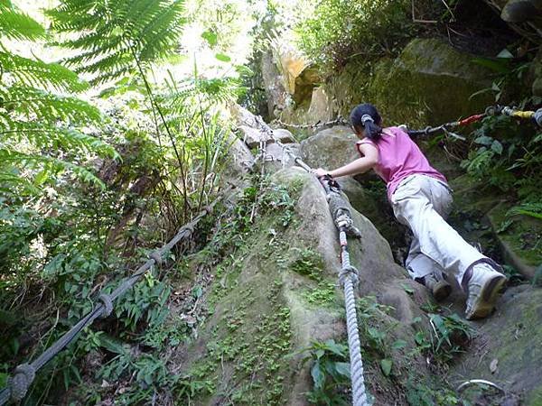
[[[356,106],[350,124],[360,138],[356,148],[361,157],[333,171],[314,170],[316,176],[338,178],[376,171],[387,183],[388,200],[397,220],[414,234],[406,258],[410,276],[425,284],[437,300],[450,294],[445,277],[455,277],[468,293],[466,318],[488,316],[506,277],[498,271],[497,263],[464,241],[444,220],[452,205],[444,175],[429,164],[402,129],[382,128],[375,106]]]

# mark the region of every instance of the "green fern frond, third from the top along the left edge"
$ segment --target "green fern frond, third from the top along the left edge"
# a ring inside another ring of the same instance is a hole
[[[102,119],[98,108],[77,97],[53,95],[41,89],[25,86],[0,88],[0,106],[14,116],[42,122],[65,121],[78,125],[97,124]]]

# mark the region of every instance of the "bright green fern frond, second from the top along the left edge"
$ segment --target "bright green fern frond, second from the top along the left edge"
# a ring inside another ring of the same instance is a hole
[[[58,63],[30,60],[13,53],[0,51],[0,66],[3,75],[8,75],[33,88],[54,88],[60,91],[80,92],[89,85],[75,72]]]

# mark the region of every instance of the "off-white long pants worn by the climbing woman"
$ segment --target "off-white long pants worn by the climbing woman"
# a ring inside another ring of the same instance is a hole
[[[391,204],[397,220],[414,233],[406,258],[406,270],[413,279],[444,272],[453,275],[461,286],[469,266],[491,263],[444,221],[450,212],[452,194],[443,181],[411,175],[399,183]]]

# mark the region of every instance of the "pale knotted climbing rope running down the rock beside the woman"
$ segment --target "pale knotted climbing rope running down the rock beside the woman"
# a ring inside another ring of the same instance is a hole
[[[264,120],[257,116],[257,124],[260,130],[269,135],[269,138],[281,146],[300,167],[305,171],[312,172],[310,166],[294,154],[285,144],[280,143],[273,136],[273,130],[266,125]],[[356,298],[354,287],[360,281],[358,270],[350,264],[348,254],[347,235],[360,238],[360,231],[353,226],[350,208],[341,195],[341,187],[331,177],[321,179],[326,198],[329,203],[335,226],[339,230],[339,242],[341,244],[341,272],[339,282],[344,289],[344,302],[346,308],[346,327],[348,333],[348,347],[350,353],[350,377],[352,382],[352,403],[354,406],[369,406],[365,380],[363,378],[363,360],[361,359],[360,330],[358,328],[358,316],[356,314]]]

